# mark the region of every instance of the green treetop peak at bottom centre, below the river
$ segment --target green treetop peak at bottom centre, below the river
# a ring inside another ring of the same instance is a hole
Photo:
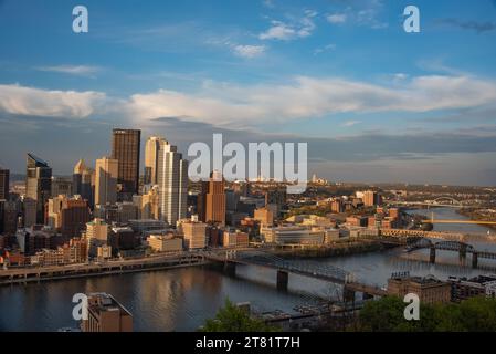
[[[201,332],[274,332],[277,327],[267,325],[263,320],[253,319],[250,313],[225,300],[214,319],[209,319]]]

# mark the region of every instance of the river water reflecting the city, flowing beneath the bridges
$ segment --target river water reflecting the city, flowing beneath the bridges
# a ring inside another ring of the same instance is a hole
[[[415,210],[430,216],[432,210]],[[437,219],[466,219],[454,209],[434,209]],[[442,225],[435,230],[486,233],[477,225]],[[494,232],[494,231],[493,231]],[[478,250],[496,251],[496,242],[486,237],[466,240]],[[482,269],[463,267],[455,252],[439,251],[439,264],[428,262],[425,250],[405,254],[401,249],[341,258],[315,259],[308,262],[339,267],[365,283],[384,285],[394,271],[411,274],[472,277],[489,272],[496,261],[481,260]],[[289,275],[289,291],[274,287],[275,271],[260,267],[238,267],[229,277],[209,267],[193,267],[87,279],[70,279],[8,285],[0,288],[0,331],[56,331],[75,327],[72,296],[83,292],[107,292],[124,304],[134,316],[135,331],[194,331],[212,317],[225,298],[250,302],[256,311],[292,312],[297,305],[316,303],[321,298],[336,298],[339,289],[326,282]]]

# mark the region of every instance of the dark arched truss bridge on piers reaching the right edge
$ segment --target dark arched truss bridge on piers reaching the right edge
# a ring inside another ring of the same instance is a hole
[[[441,241],[433,242],[426,238],[411,239],[407,246],[407,251],[411,252],[419,249],[430,249],[429,261],[435,263],[436,250],[458,252],[460,257],[465,258],[472,253],[472,267],[477,268],[478,259],[496,259],[496,252],[478,251],[472,244],[461,241]]]

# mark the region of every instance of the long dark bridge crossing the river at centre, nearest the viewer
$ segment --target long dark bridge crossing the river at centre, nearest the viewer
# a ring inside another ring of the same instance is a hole
[[[356,292],[363,293],[363,298],[384,296],[387,291],[374,285],[359,283],[355,275],[338,267],[329,264],[316,264],[305,260],[287,261],[275,254],[264,251],[236,251],[205,252],[205,260],[223,263],[224,270],[235,274],[236,264],[260,266],[277,271],[276,285],[278,290],[287,290],[289,273],[328,281],[344,287],[344,299],[353,300]]]

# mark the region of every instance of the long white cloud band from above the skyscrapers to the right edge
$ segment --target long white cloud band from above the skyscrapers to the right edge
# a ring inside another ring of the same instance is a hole
[[[471,76],[420,76],[389,86],[341,79],[296,77],[284,85],[208,82],[200,92],[133,95],[130,116],[188,117],[214,125],[256,125],[337,113],[429,112],[490,104],[496,83]]]

